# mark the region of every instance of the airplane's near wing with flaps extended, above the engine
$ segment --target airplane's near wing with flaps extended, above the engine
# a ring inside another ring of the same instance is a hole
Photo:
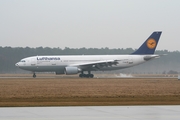
[[[117,65],[118,61],[120,60],[101,60],[101,61],[95,61],[95,62],[85,62],[85,63],[79,63],[79,64],[72,64],[69,66],[78,66],[79,68],[82,69],[100,69],[102,67],[109,67],[112,65]]]

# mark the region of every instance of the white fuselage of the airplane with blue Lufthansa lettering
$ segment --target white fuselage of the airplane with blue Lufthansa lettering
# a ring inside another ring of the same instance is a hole
[[[157,55],[69,55],[69,56],[33,56],[22,59],[16,63],[21,69],[33,71],[33,72],[57,72],[64,74],[65,67],[75,66],[83,71],[105,71],[105,70],[117,70],[127,68],[144,63],[144,57],[155,58]],[[95,69],[82,64],[98,63],[98,61],[116,60],[116,65],[106,65]],[[150,60],[150,59],[148,59]]]

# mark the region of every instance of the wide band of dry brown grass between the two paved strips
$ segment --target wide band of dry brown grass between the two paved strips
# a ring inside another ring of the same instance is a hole
[[[180,105],[175,78],[1,78],[0,106]]]

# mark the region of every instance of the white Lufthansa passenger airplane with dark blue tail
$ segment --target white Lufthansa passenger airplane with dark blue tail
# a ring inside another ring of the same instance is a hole
[[[21,59],[15,65],[20,69],[32,71],[34,78],[36,72],[55,72],[57,75],[79,74],[81,78],[93,78],[91,71],[119,70],[159,58],[160,55],[154,52],[161,33],[161,31],[153,32],[135,52],[128,55],[32,56]]]

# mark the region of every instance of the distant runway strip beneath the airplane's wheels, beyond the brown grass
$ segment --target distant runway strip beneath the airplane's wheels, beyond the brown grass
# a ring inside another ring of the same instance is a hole
[[[0,79],[12,79],[12,78],[20,78],[20,79],[25,79],[25,78],[33,78],[32,74],[0,74]],[[46,79],[46,78],[52,78],[52,79],[64,79],[64,78],[79,78],[78,75],[55,75],[55,74],[37,74],[36,79]],[[177,78],[178,79],[178,75],[166,75],[166,74],[95,74],[94,79],[98,79],[98,78],[107,78],[107,79],[142,79],[142,78],[160,78],[160,79],[170,79],[170,78]],[[33,78],[34,79],[34,78]],[[81,79],[81,78],[80,78]]]

